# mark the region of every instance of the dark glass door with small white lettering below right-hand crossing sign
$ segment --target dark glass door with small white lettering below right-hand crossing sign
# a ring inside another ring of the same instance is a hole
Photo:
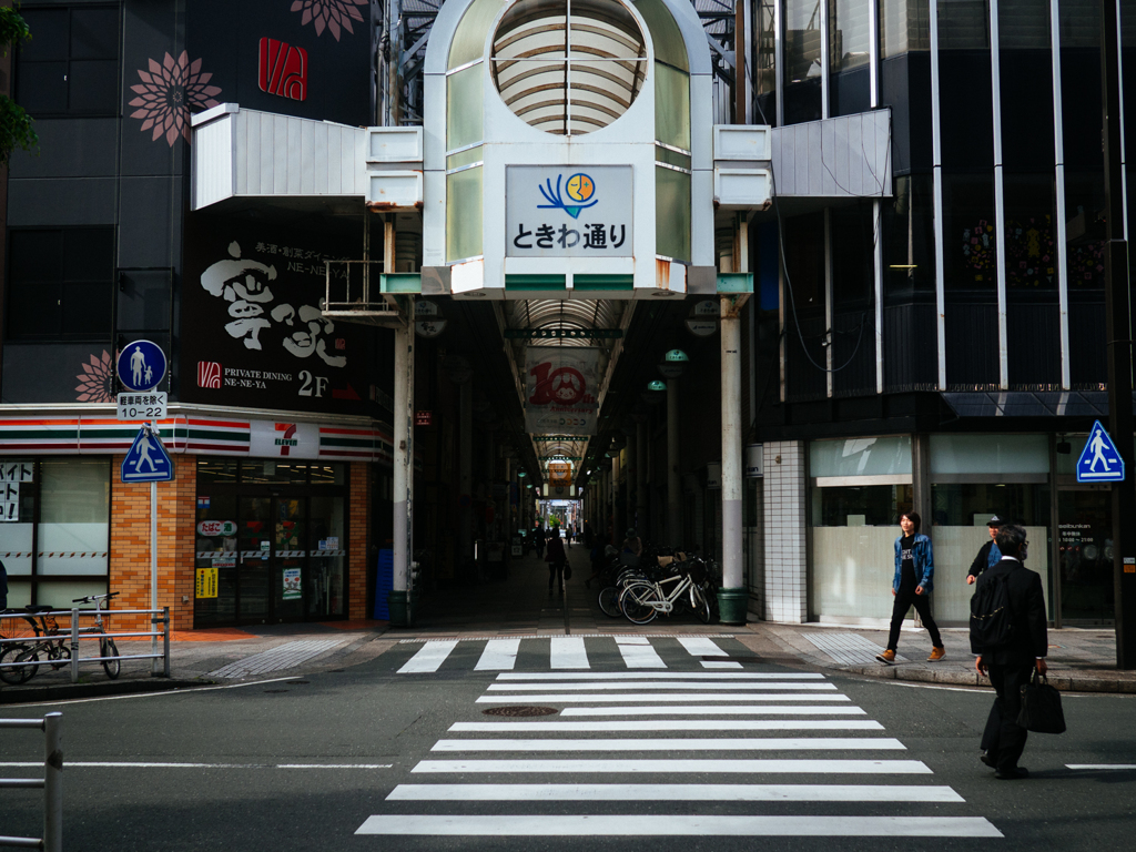
[[[1108,488],[1058,492],[1062,623],[1111,624],[1112,494]]]

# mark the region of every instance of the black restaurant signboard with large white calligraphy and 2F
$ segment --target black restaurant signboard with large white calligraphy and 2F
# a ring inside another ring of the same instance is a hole
[[[371,329],[320,312],[325,259],[358,256],[314,231],[191,214],[181,300],[185,402],[365,414]],[[345,267],[333,265],[333,275]]]

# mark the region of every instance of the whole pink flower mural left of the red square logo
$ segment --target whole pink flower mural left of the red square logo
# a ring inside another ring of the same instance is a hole
[[[150,70],[139,69],[142,82],[131,86],[137,98],[130,106],[137,107],[131,118],[141,118],[142,130],[153,128],[153,142],[161,136],[170,148],[178,136],[190,141],[190,110],[216,107],[214,95],[220,94],[219,86],[208,85],[212,74],[201,73],[201,60],[190,61],[184,50],[174,59],[169,53],[159,64],[150,60]]]

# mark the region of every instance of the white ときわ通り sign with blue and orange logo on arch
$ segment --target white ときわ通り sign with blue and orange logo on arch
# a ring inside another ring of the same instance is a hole
[[[630,166],[508,166],[511,258],[632,257]]]

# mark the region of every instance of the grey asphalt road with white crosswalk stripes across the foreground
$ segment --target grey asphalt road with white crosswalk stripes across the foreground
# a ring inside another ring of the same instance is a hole
[[[1000,782],[977,760],[989,692],[587,643],[578,671],[532,642],[515,661],[508,643],[407,643],[341,671],[2,715],[64,712],[76,851],[1130,847],[1136,768],[1068,765],[1136,766],[1136,698],[1067,695],[1069,732],[1031,735],[1033,776]],[[528,705],[557,712],[484,713]],[[0,733],[0,776],[35,775],[14,763],[41,749]],[[39,796],[0,791],[0,834],[39,834]]]

